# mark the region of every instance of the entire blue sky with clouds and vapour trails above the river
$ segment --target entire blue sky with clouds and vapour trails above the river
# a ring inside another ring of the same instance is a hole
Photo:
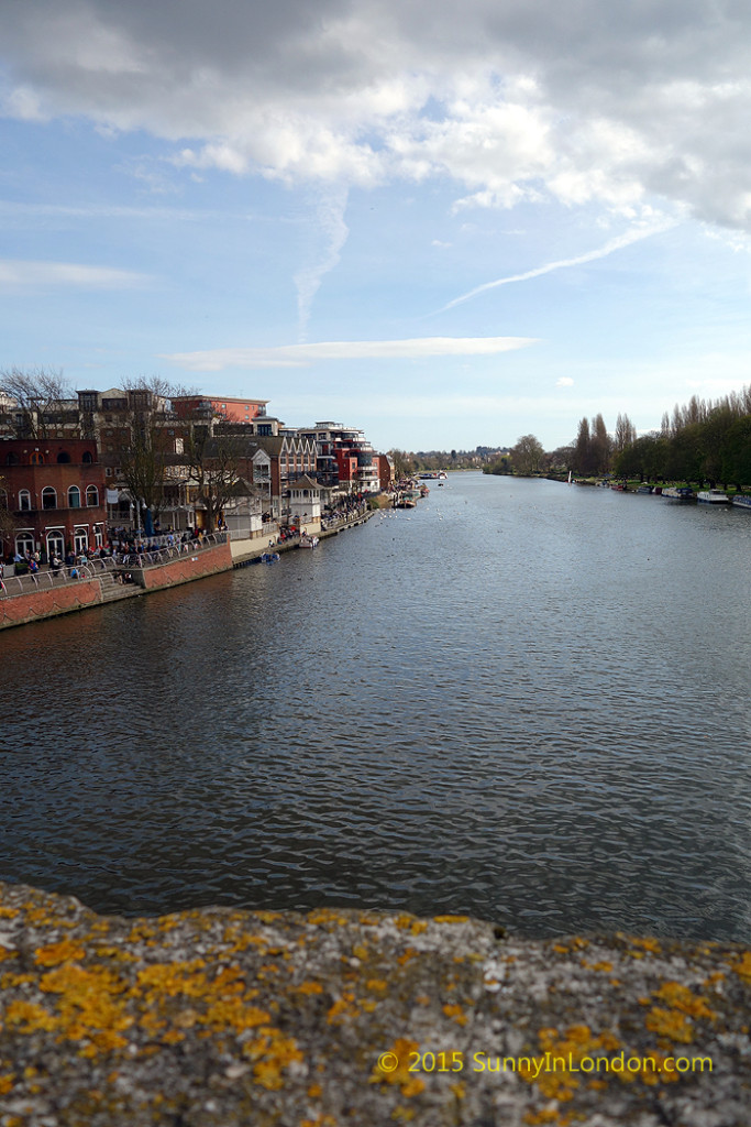
[[[743,0],[0,0],[0,370],[376,449],[751,382]]]

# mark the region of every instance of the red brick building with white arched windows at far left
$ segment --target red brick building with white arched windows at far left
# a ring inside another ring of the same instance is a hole
[[[0,479],[0,505],[16,525],[3,558],[27,550],[62,557],[106,539],[105,472],[93,440],[6,438]]]

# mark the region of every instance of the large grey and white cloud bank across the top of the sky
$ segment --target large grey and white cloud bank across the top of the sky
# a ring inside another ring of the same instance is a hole
[[[652,197],[751,228],[751,9],[706,0],[36,0],[0,55],[5,113],[145,130],[178,166],[458,204]],[[169,152],[171,150],[171,153]]]

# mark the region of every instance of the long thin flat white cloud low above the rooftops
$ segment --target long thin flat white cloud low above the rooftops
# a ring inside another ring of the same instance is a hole
[[[429,356],[491,356],[535,344],[533,337],[415,337],[411,340],[333,340],[278,348],[214,348],[163,355],[195,372],[227,367],[303,367],[316,361],[422,360]]]

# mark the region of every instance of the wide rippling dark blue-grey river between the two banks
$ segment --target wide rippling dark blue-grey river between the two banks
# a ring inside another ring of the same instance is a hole
[[[0,877],[751,941],[751,514],[449,474],[2,633]]]

